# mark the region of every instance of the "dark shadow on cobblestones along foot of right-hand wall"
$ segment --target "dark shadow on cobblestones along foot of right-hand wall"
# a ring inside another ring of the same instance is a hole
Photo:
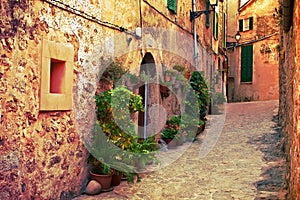
[[[255,182],[257,195],[255,200],[284,200],[286,199],[286,160],[283,148],[283,134],[278,126],[278,116],[270,133],[259,137],[251,137],[250,144],[254,144],[263,152],[263,160],[267,166],[262,168],[262,180]]]

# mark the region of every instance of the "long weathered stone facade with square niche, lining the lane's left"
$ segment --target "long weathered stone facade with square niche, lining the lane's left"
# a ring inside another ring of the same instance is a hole
[[[143,61],[158,76],[174,65],[195,70],[191,9],[187,0],[175,8],[162,0],[1,1],[0,199],[80,194],[100,72],[115,60],[136,74]],[[196,70],[221,88],[213,81],[226,59],[221,35],[211,41],[201,18]]]

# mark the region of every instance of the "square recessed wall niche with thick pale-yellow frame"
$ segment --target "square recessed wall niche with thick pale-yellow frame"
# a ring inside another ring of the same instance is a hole
[[[73,46],[43,40],[41,55],[40,110],[71,110]]]

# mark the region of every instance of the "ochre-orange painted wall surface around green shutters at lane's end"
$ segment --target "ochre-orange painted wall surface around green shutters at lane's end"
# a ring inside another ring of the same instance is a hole
[[[231,1],[231,4],[234,2]],[[234,68],[236,67],[236,101],[276,100],[279,98],[279,19],[275,18],[275,8],[279,9],[278,1],[252,0],[235,13],[229,4],[228,41],[235,41],[239,30],[238,20],[253,17],[253,30],[241,31],[241,38],[234,50],[228,51],[229,81],[228,97],[234,96]],[[234,28],[230,26],[235,26]],[[230,32],[229,32],[230,31]],[[252,82],[241,82],[241,46],[253,45]]]

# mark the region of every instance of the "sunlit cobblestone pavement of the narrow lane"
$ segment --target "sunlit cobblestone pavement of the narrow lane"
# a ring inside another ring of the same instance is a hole
[[[160,154],[165,164],[178,157],[172,164],[142,174],[140,182],[75,199],[285,199],[277,104],[227,104],[226,115],[208,116],[197,141]]]

